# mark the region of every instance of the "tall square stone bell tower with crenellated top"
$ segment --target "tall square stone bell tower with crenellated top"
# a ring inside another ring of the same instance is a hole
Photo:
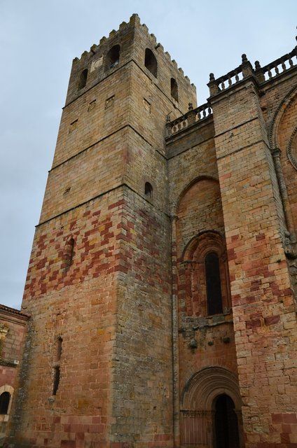
[[[137,15],[74,59],[22,302],[15,446],[172,444],[164,125],[188,102]]]

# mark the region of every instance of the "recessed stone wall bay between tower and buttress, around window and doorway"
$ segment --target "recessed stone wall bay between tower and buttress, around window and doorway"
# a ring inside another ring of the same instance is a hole
[[[184,400],[186,391],[191,390],[195,376],[209,369],[209,377],[217,367],[226,374],[237,377],[233,316],[228,291],[228,267],[221,272],[221,285],[225,312],[217,316],[207,315],[206,286],[204,283],[204,259],[192,257],[191,246],[204,239],[207,250],[211,250],[212,238],[221,244],[225,253],[225,228],[218,182],[216,152],[214,148],[214,126],[212,117],[179,132],[167,139],[169,158],[170,207],[172,216],[172,264],[173,291],[177,295],[174,312],[173,334],[175,364],[175,442],[193,443],[206,446],[212,443],[212,412],[207,417],[191,416],[190,409],[205,412],[202,402],[195,400],[190,405]],[[209,237],[209,235],[211,235]],[[197,243],[198,244],[198,243]],[[199,246],[199,244],[198,244]],[[195,249],[194,249],[195,250]],[[199,247],[198,247],[199,252]],[[188,253],[189,252],[189,253]],[[198,255],[199,256],[199,253]],[[216,381],[214,381],[216,383]],[[209,393],[207,388],[201,393]],[[194,406],[194,407],[191,407]],[[190,412],[190,420],[187,420]],[[197,420],[198,419],[198,420]],[[187,440],[188,425],[192,427]],[[197,424],[200,430],[193,430]],[[207,434],[203,438],[200,431]]]

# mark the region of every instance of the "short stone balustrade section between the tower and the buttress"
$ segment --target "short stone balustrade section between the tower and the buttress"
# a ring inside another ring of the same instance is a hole
[[[185,115],[176,118],[166,124],[166,134],[170,137],[172,134],[185,129],[188,126],[197,123],[198,121],[205,120],[205,118],[212,115],[212,108],[209,103],[202,104],[202,106],[193,109],[191,103],[188,104],[188,112]]]

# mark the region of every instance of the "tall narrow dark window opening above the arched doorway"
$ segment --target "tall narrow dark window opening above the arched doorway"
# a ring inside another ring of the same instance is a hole
[[[219,257],[216,252],[209,252],[205,257],[205,281],[207,314],[223,313]]]

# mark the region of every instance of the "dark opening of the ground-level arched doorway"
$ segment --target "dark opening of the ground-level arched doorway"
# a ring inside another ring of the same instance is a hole
[[[228,395],[216,399],[214,413],[214,436],[216,448],[238,448],[240,437],[234,402]]]

